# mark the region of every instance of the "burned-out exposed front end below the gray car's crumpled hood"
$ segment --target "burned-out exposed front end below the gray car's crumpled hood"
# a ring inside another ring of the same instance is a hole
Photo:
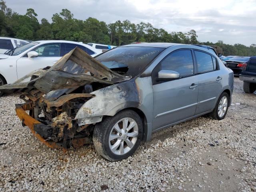
[[[40,122],[33,125],[34,131],[62,148],[92,143],[94,125],[79,126],[78,120],[74,119],[81,106],[92,97],[93,94],[67,94],[56,100],[44,97],[30,100],[29,115]]]

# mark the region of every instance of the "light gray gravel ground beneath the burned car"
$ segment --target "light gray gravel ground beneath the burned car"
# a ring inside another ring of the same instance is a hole
[[[153,134],[134,156],[109,162],[93,145],[51,149],[0,98],[0,191],[256,191],[256,94],[235,78],[224,120],[200,117]]]

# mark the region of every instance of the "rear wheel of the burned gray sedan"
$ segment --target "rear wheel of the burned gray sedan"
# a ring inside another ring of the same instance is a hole
[[[214,110],[211,112],[211,116],[213,119],[222,120],[225,118],[225,116],[228,112],[229,99],[230,98],[226,92],[223,92],[220,95]]]

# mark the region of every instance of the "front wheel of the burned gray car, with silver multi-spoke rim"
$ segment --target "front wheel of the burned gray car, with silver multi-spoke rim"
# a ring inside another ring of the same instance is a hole
[[[143,124],[133,110],[123,110],[96,124],[93,143],[96,151],[110,161],[132,156],[142,140]]]

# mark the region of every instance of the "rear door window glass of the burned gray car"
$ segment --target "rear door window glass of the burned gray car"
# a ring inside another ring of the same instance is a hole
[[[195,51],[195,55],[196,55],[196,61],[197,61],[199,73],[214,70],[211,55],[204,52],[200,52],[200,51]],[[216,68],[216,61],[215,61],[215,68]]]

